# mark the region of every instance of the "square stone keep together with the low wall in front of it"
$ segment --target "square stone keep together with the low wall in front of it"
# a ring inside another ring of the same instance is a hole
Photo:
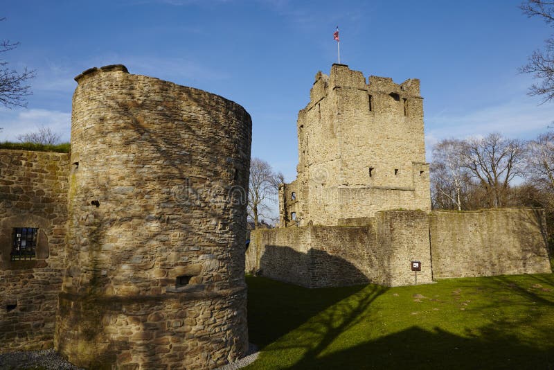
[[[251,231],[247,272],[309,288],[551,272],[541,210],[431,212],[419,80],[333,64],[297,127],[298,176],[280,227]]]

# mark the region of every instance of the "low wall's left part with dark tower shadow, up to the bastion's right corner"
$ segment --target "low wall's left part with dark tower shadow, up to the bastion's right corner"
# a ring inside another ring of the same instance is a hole
[[[247,272],[308,288],[430,283],[429,229],[422,211],[382,211],[365,226],[288,227],[251,231]],[[341,221],[348,224],[347,220]]]

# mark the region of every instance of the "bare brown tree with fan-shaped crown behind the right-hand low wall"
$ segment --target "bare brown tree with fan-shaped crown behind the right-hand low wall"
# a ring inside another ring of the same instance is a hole
[[[487,193],[488,206],[505,205],[510,182],[521,174],[524,152],[522,141],[506,139],[499,133],[464,141],[461,161],[476,185]]]

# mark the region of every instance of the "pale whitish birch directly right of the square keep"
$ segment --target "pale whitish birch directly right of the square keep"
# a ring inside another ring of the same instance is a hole
[[[456,139],[444,139],[433,148],[431,165],[431,192],[434,204],[443,209],[462,210],[462,200],[467,192],[469,176],[463,166],[464,143]]]

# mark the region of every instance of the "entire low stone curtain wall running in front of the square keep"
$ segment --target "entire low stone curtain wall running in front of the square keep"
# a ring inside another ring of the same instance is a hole
[[[252,231],[247,272],[310,288],[413,285],[411,261],[422,266],[418,283],[551,272],[544,215],[537,209],[381,211],[339,223]]]

